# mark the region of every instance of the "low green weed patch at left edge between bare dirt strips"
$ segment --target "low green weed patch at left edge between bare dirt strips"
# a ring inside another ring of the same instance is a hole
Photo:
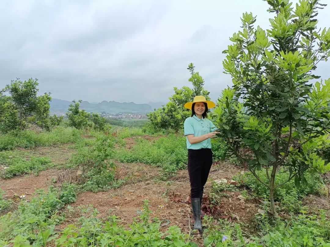
[[[28,157],[28,159],[25,157]],[[11,178],[31,172],[38,174],[53,164],[48,157],[35,157],[28,152],[21,151],[4,151],[0,152],[0,165],[5,168],[0,172],[0,176],[2,178]]]

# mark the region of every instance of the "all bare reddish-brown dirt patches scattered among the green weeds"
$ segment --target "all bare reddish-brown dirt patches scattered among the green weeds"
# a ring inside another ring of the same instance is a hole
[[[150,137],[151,138],[151,137]],[[127,149],[133,147],[135,138],[126,138]],[[151,138],[151,140],[153,140]],[[31,150],[30,150],[31,151]],[[62,147],[42,147],[33,150],[35,154],[47,155],[56,163],[64,163],[71,157],[74,150],[68,149],[68,145]],[[126,164],[115,162],[116,179],[129,178],[127,182],[117,189],[106,192],[84,192],[78,195],[77,201],[70,204],[75,209],[74,213],[66,213],[65,221],[57,227],[63,229],[69,224],[77,223],[81,216],[78,207],[93,205],[99,211],[99,218],[107,219],[111,215],[116,215],[120,224],[128,227],[133,219],[139,216],[143,209],[144,201],[148,200],[150,209],[153,211],[152,217],[157,217],[162,221],[162,231],[169,226],[177,225],[182,232],[189,233],[189,223],[193,225],[193,215],[191,213],[189,194],[190,185],[186,170],[178,171],[174,178],[166,181],[161,179],[160,169],[157,167],[134,163]],[[251,223],[258,210],[257,200],[242,200],[241,192],[237,190],[224,191],[220,204],[210,208],[209,193],[212,183],[216,179],[226,178],[230,181],[234,175],[242,172],[243,168],[238,168],[228,162],[217,162],[211,168],[208,182],[204,189],[202,209],[213,216],[229,221]],[[65,171],[49,169],[43,171],[39,176],[28,175],[14,177],[11,179],[0,179],[0,188],[6,191],[7,198],[15,198],[16,195],[24,194],[29,200],[36,189],[47,189],[54,180],[58,180]],[[240,197],[240,198],[239,198]],[[330,211],[329,198],[309,196],[304,200],[304,204]],[[66,210],[66,209],[64,209]],[[193,241],[202,246],[201,236],[194,235]]]

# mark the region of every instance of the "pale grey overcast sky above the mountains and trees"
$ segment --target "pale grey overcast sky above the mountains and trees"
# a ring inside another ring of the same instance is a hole
[[[295,1],[296,2],[296,1]],[[323,3],[326,1],[324,0]],[[252,4],[254,3],[254,4]],[[104,0],[2,2],[0,88],[38,78],[40,92],[89,102],[167,102],[173,87],[190,86],[190,62],[216,100],[231,85],[222,61],[243,12],[266,29],[262,0]],[[329,27],[330,6],[318,27]],[[317,73],[330,77],[330,62]]]

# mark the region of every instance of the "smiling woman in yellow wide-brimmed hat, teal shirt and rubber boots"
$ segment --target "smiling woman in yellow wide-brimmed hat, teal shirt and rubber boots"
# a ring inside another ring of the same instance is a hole
[[[212,165],[211,138],[215,138],[218,133],[213,131],[216,127],[207,119],[207,111],[215,107],[215,103],[206,100],[204,96],[196,96],[184,107],[191,110],[191,117],[184,121],[184,135],[187,139],[190,197],[195,218],[194,229],[202,231],[201,203],[204,185]]]

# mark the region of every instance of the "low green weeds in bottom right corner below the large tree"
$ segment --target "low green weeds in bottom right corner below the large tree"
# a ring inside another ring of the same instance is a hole
[[[228,221],[217,220],[209,216],[204,218],[204,246],[237,247],[282,247],[282,246],[320,246],[328,247],[330,242],[330,222],[325,211],[320,215],[294,215],[287,220],[277,220],[265,229],[261,236],[251,236],[242,230],[242,226]],[[248,229],[250,231],[251,229]]]

